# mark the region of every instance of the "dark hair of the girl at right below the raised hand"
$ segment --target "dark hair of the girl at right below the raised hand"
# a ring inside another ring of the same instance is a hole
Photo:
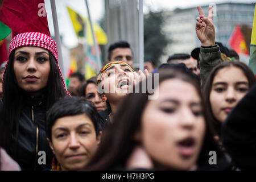
[[[204,85],[203,98],[204,98],[206,119],[208,120],[209,124],[212,125],[210,127],[212,129],[211,133],[213,136],[217,135],[218,137],[221,137],[221,122],[218,121],[213,115],[212,106],[210,105],[210,92],[212,90],[212,82],[214,80],[214,77],[222,68],[228,68],[228,67],[240,68],[249,82],[249,88],[251,88],[251,86],[255,82],[255,76],[253,74],[253,71],[251,71],[251,69],[247,67],[246,64],[239,61],[225,61],[217,65],[210,72],[207,82]]]

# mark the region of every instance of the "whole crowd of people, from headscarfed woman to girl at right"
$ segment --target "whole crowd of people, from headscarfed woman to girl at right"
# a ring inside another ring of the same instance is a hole
[[[134,71],[115,42],[96,77],[73,73],[68,88],[55,41],[16,35],[0,69],[0,170],[254,169],[255,75],[215,42],[212,7],[197,9],[191,55]]]

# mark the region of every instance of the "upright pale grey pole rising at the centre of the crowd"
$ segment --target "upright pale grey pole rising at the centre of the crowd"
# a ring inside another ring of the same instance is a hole
[[[139,69],[144,71],[143,0],[139,0]]]

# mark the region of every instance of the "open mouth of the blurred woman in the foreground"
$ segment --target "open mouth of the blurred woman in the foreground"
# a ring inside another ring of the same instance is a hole
[[[177,143],[178,151],[184,158],[189,158],[195,152],[195,139],[192,137],[185,138]]]

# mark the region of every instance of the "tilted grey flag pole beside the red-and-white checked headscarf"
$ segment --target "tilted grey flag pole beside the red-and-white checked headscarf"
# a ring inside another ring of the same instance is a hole
[[[52,8],[52,18],[53,18],[55,41],[56,41],[57,49],[59,52],[59,55],[58,55],[59,56],[59,65],[60,65],[60,69],[61,69],[61,72],[62,72],[62,75],[64,78],[64,82],[65,82],[66,75],[65,75],[63,57],[62,57],[62,51],[61,51],[60,32],[59,32],[59,26],[58,26],[58,20],[57,20],[55,0],[51,0],[51,8]]]

